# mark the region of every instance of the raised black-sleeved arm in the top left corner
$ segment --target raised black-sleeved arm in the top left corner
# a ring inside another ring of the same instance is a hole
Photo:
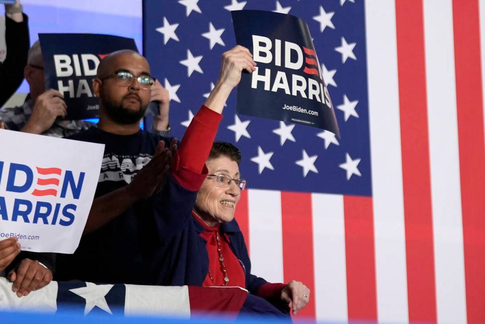
[[[22,12],[8,13],[20,8],[20,1],[5,4],[5,45],[7,56],[0,65],[0,107],[17,90],[23,80],[23,69],[27,65],[30,47],[28,18]]]

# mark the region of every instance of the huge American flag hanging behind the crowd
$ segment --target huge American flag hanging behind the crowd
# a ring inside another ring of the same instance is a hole
[[[485,323],[485,1],[145,0],[144,55],[181,138],[235,45],[230,10],[309,25],[341,138],[235,114],[256,275],[318,320]]]

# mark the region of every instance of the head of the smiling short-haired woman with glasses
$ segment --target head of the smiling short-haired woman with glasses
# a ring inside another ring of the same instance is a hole
[[[208,224],[230,222],[241,199],[245,180],[241,179],[241,153],[233,144],[214,142],[206,161],[209,173],[200,187],[195,211]]]

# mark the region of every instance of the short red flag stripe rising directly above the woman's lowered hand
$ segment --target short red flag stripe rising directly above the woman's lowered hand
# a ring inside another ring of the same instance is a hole
[[[312,194],[281,193],[281,227],[285,283],[301,281],[315,292]],[[298,316],[315,319],[315,295]]]

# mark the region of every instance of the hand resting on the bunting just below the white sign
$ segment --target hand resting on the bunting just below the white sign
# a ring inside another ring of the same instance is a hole
[[[23,259],[8,273],[8,278],[13,282],[12,291],[22,297],[47,286],[52,281],[52,272],[37,260]]]

